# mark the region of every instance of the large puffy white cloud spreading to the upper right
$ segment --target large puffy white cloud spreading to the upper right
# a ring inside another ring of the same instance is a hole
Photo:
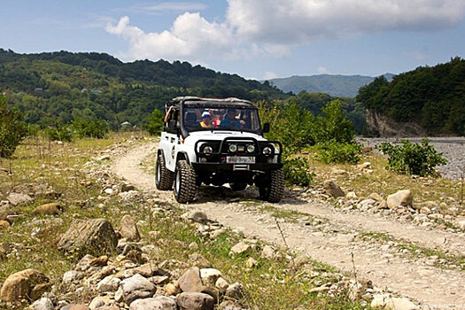
[[[146,5],[150,12],[205,9],[198,3]],[[463,19],[463,0],[228,0],[223,22],[184,12],[169,29],[145,33],[128,17],[106,30],[129,42],[127,59],[288,57],[297,45],[380,31],[429,31]]]

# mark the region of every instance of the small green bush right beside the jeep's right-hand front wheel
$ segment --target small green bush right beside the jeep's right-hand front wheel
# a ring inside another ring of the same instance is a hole
[[[308,186],[314,179],[308,160],[301,157],[283,157],[283,169],[286,183],[300,186]]]

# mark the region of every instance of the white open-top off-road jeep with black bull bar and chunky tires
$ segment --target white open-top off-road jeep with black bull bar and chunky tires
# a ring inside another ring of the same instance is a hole
[[[259,188],[260,199],[278,202],[284,174],[278,141],[267,141],[259,112],[251,102],[237,98],[176,97],[166,105],[155,183],[171,190],[179,203],[194,200],[201,183],[232,190]]]

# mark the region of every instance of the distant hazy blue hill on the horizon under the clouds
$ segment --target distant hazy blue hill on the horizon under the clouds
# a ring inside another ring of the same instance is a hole
[[[384,74],[391,80],[392,74]],[[294,75],[288,78],[269,80],[271,85],[284,92],[298,94],[302,90],[308,92],[327,93],[337,97],[355,97],[361,86],[369,84],[375,78],[363,75],[330,75],[318,74],[310,76]]]

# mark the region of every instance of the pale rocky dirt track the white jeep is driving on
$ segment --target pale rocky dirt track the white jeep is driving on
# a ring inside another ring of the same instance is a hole
[[[137,146],[115,160],[112,170],[139,190],[177,204],[172,191],[156,190],[153,174],[145,173],[140,165],[156,150],[157,143]],[[181,207],[202,210],[246,235],[304,252],[314,260],[369,279],[418,301],[422,308],[465,309],[465,273],[460,267],[452,263],[447,267],[447,262],[438,267],[434,264],[438,258],[407,255],[395,242],[361,237],[378,234],[402,239],[460,259],[465,256],[463,233],[422,228],[378,214],[344,213],[329,202],[304,201],[291,193],[279,204],[260,202],[254,199],[257,196],[254,188],[232,192],[226,187],[202,186],[196,201]],[[276,218],[276,211],[289,211],[289,216]]]

